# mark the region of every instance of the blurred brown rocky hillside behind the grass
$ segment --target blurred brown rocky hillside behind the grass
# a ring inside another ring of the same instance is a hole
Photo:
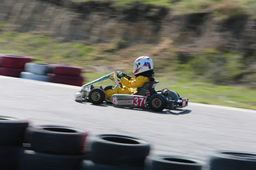
[[[217,84],[256,86],[253,15],[232,13],[234,8],[230,7],[204,9],[175,14],[167,7],[142,3],[119,8],[113,2],[1,0],[0,21],[8,23],[2,32],[34,31],[58,42],[118,40],[118,51],[141,44],[157,46],[150,55],[162,59],[163,66],[169,66],[166,59],[175,63],[172,71],[193,71],[194,78],[204,77]]]

